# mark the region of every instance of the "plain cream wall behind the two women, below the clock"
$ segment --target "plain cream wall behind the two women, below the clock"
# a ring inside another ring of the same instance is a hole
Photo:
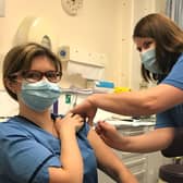
[[[160,1],[162,3],[166,0]],[[160,2],[158,0],[147,2],[146,0],[84,0],[78,15],[69,16],[62,10],[61,0],[5,0],[5,16],[0,17],[0,56],[12,47],[14,35],[24,17],[41,16],[52,26],[57,47],[69,45],[90,52],[105,53],[106,80],[113,81],[115,85],[133,87],[134,83],[137,83],[134,81],[136,77],[133,75],[132,62],[132,30],[136,21],[134,19],[141,16],[142,10],[148,13],[155,11],[157,7],[159,9],[157,3]],[[86,84],[86,81],[80,76],[63,77],[62,82],[65,85],[76,86]],[[1,82],[0,87],[2,87]]]

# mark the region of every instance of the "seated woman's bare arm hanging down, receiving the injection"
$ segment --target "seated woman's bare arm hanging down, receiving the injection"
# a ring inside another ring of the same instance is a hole
[[[137,183],[135,176],[122,160],[107,146],[94,130],[88,133],[88,141],[94,148],[98,167],[117,182]]]

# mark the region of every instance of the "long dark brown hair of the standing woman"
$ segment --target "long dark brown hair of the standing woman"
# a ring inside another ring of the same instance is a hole
[[[156,62],[167,75],[183,52],[183,30],[173,21],[158,13],[143,17],[135,26],[133,38],[150,37],[156,41]],[[142,75],[146,82],[158,80],[142,64]]]

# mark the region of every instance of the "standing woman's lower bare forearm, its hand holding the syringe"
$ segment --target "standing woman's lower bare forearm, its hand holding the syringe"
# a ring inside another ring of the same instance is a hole
[[[168,147],[174,138],[173,127],[156,129],[136,136],[123,136],[113,125],[107,122],[99,122],[96,131],[110,147],[131,152],[161,150]]]

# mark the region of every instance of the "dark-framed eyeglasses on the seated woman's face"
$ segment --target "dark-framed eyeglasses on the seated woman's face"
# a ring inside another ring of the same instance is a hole
[[[42,80],[44,76],[47,77],[49,82],[58,83],[61,80],[62,73],[59,71],[36,71],[36,70],[27,70],[27,71],[21,71],[19,73],[14,73],[9,76],[10,80],[17,81],[19,77],[24,78],[28,83],[36,83]]]

